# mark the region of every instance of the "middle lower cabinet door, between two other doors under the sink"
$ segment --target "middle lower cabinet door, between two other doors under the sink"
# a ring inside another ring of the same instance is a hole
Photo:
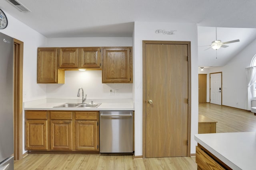
[[[51,150],[72,150],[72,121],[51,120]]]

